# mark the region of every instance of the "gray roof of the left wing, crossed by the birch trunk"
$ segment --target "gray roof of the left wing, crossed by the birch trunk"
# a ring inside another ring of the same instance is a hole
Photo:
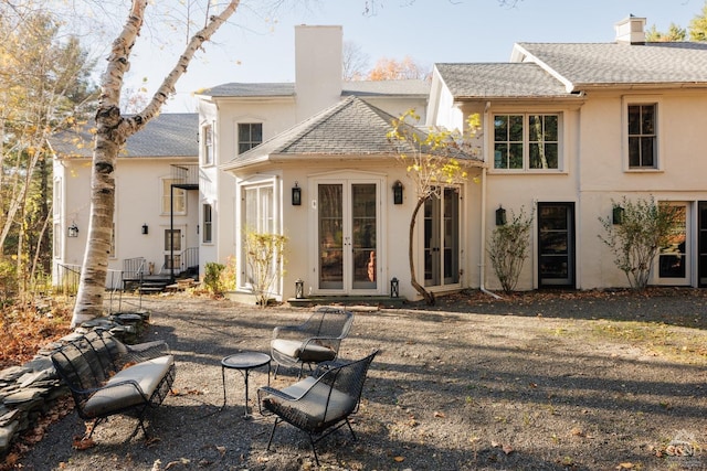
[[[61,157],[92,157],[93,124],[76,132],[59,132],[50,138],[55,153]],[[138,157],[198,157],[199,115],[196,113],[165,113],[150,119],[145,128],[130,136],[120,151],[120,158]]]

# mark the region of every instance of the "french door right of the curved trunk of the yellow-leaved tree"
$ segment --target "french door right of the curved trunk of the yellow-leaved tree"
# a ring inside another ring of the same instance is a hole
[[[443,189],[424,202],[424,286],[460,282],[460,192]]]

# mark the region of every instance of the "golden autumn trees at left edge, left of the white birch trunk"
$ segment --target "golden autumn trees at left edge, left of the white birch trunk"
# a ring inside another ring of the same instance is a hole
[[[51,264],[51,135],[95,103],[93,62],[33,2],[0,6],[0,246],[20,298]],[[4,283],[4,281],[3,281]]]

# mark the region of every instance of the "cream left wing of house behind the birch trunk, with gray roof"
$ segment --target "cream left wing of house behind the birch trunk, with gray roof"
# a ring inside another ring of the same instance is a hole
[[[199,116],[163,114],[118,156],[107,287],[123,278],[168,279],[199,266]],[[75,283],[91,211],[93,133],[86,126],[51,140],[54,152],[54,285]],[[173,263],[170,263],[173,260]],[[161,275],[161,276],[160,276]]]

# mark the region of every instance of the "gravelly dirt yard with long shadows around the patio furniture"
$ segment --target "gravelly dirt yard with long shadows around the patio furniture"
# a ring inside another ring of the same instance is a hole
[[[275,325],[307,309],[150,297],[145,340],[166,340],[177,361],[173,394],[143,433],[117,417],[72,449],[75,413],[27,456],[28,470],[307,470],[309,442],[257,414],[251,374],[220,361],[268,351]],[[381,349],[369,372],[354,441],[346,429],[317,445],[327,470],[704,470],[707,469],[707,295],[703,290],[535,293],[496,300],[478,292],[429,308],[359,307],[340,356]],[[125,310],[125,309],[124,309]],[[296,372],[281,370],[284,387]]]

